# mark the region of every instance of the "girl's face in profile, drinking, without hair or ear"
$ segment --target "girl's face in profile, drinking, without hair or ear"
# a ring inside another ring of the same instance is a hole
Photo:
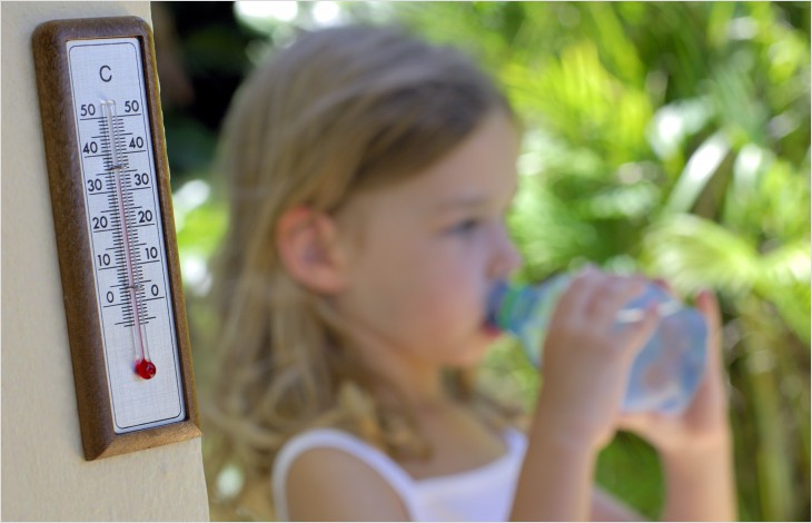
[[[518,137],[502,112],[406,181],[355,197],[337,218],[347,253],[335,304],[359,345],[417,365],[469,366],[494,333],[488,290],[521,258],[505,213]]]

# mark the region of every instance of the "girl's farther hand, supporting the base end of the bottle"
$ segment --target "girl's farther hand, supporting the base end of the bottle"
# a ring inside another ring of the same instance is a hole
[[[641,413],[620,417],[621,428],[638,434],[661,454],[712,450],[730,442],[721,319],[713,293],[700,293],[696,308],[707,323],[707,361],[705,375],[691,405],[679,416]]]

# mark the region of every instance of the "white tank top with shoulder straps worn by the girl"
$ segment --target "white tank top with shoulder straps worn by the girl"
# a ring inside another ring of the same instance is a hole
[[[271,489],[277,516],[289,520],[285,483],[290,465],[305,451],[337,448],[356,456],[386,480],[400,496],[412,521],[506,521],[527,441],[518,431],[505,433],[507,453],[482,467],[415,480],[385,453],[333,428],[307,431],[289,440],[277,454]]]

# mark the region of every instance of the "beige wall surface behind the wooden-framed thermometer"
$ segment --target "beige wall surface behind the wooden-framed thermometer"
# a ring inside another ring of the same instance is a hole
[[[86,462],[31,56],[42,21],[148,2],[2,2],[2,520],[209,519],[200,440]]]

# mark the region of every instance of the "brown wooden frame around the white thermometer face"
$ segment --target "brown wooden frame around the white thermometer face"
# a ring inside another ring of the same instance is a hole
[[[140,42],[141,50],[155,158],[155,184],[164,218],[165,256],[170,286],[167,300],[175,315],[182,383],[180,394],[186,403],[186,418],[117,434],[113,430],[112,398],[108,386],[101,318],[95,290],[67,42],[133,37]],[[201,433],[175,235],[152,31],[147,22],[137,17],[52,20],[34,30],[32,46],[85,458],[109,457],[198,437]]]

